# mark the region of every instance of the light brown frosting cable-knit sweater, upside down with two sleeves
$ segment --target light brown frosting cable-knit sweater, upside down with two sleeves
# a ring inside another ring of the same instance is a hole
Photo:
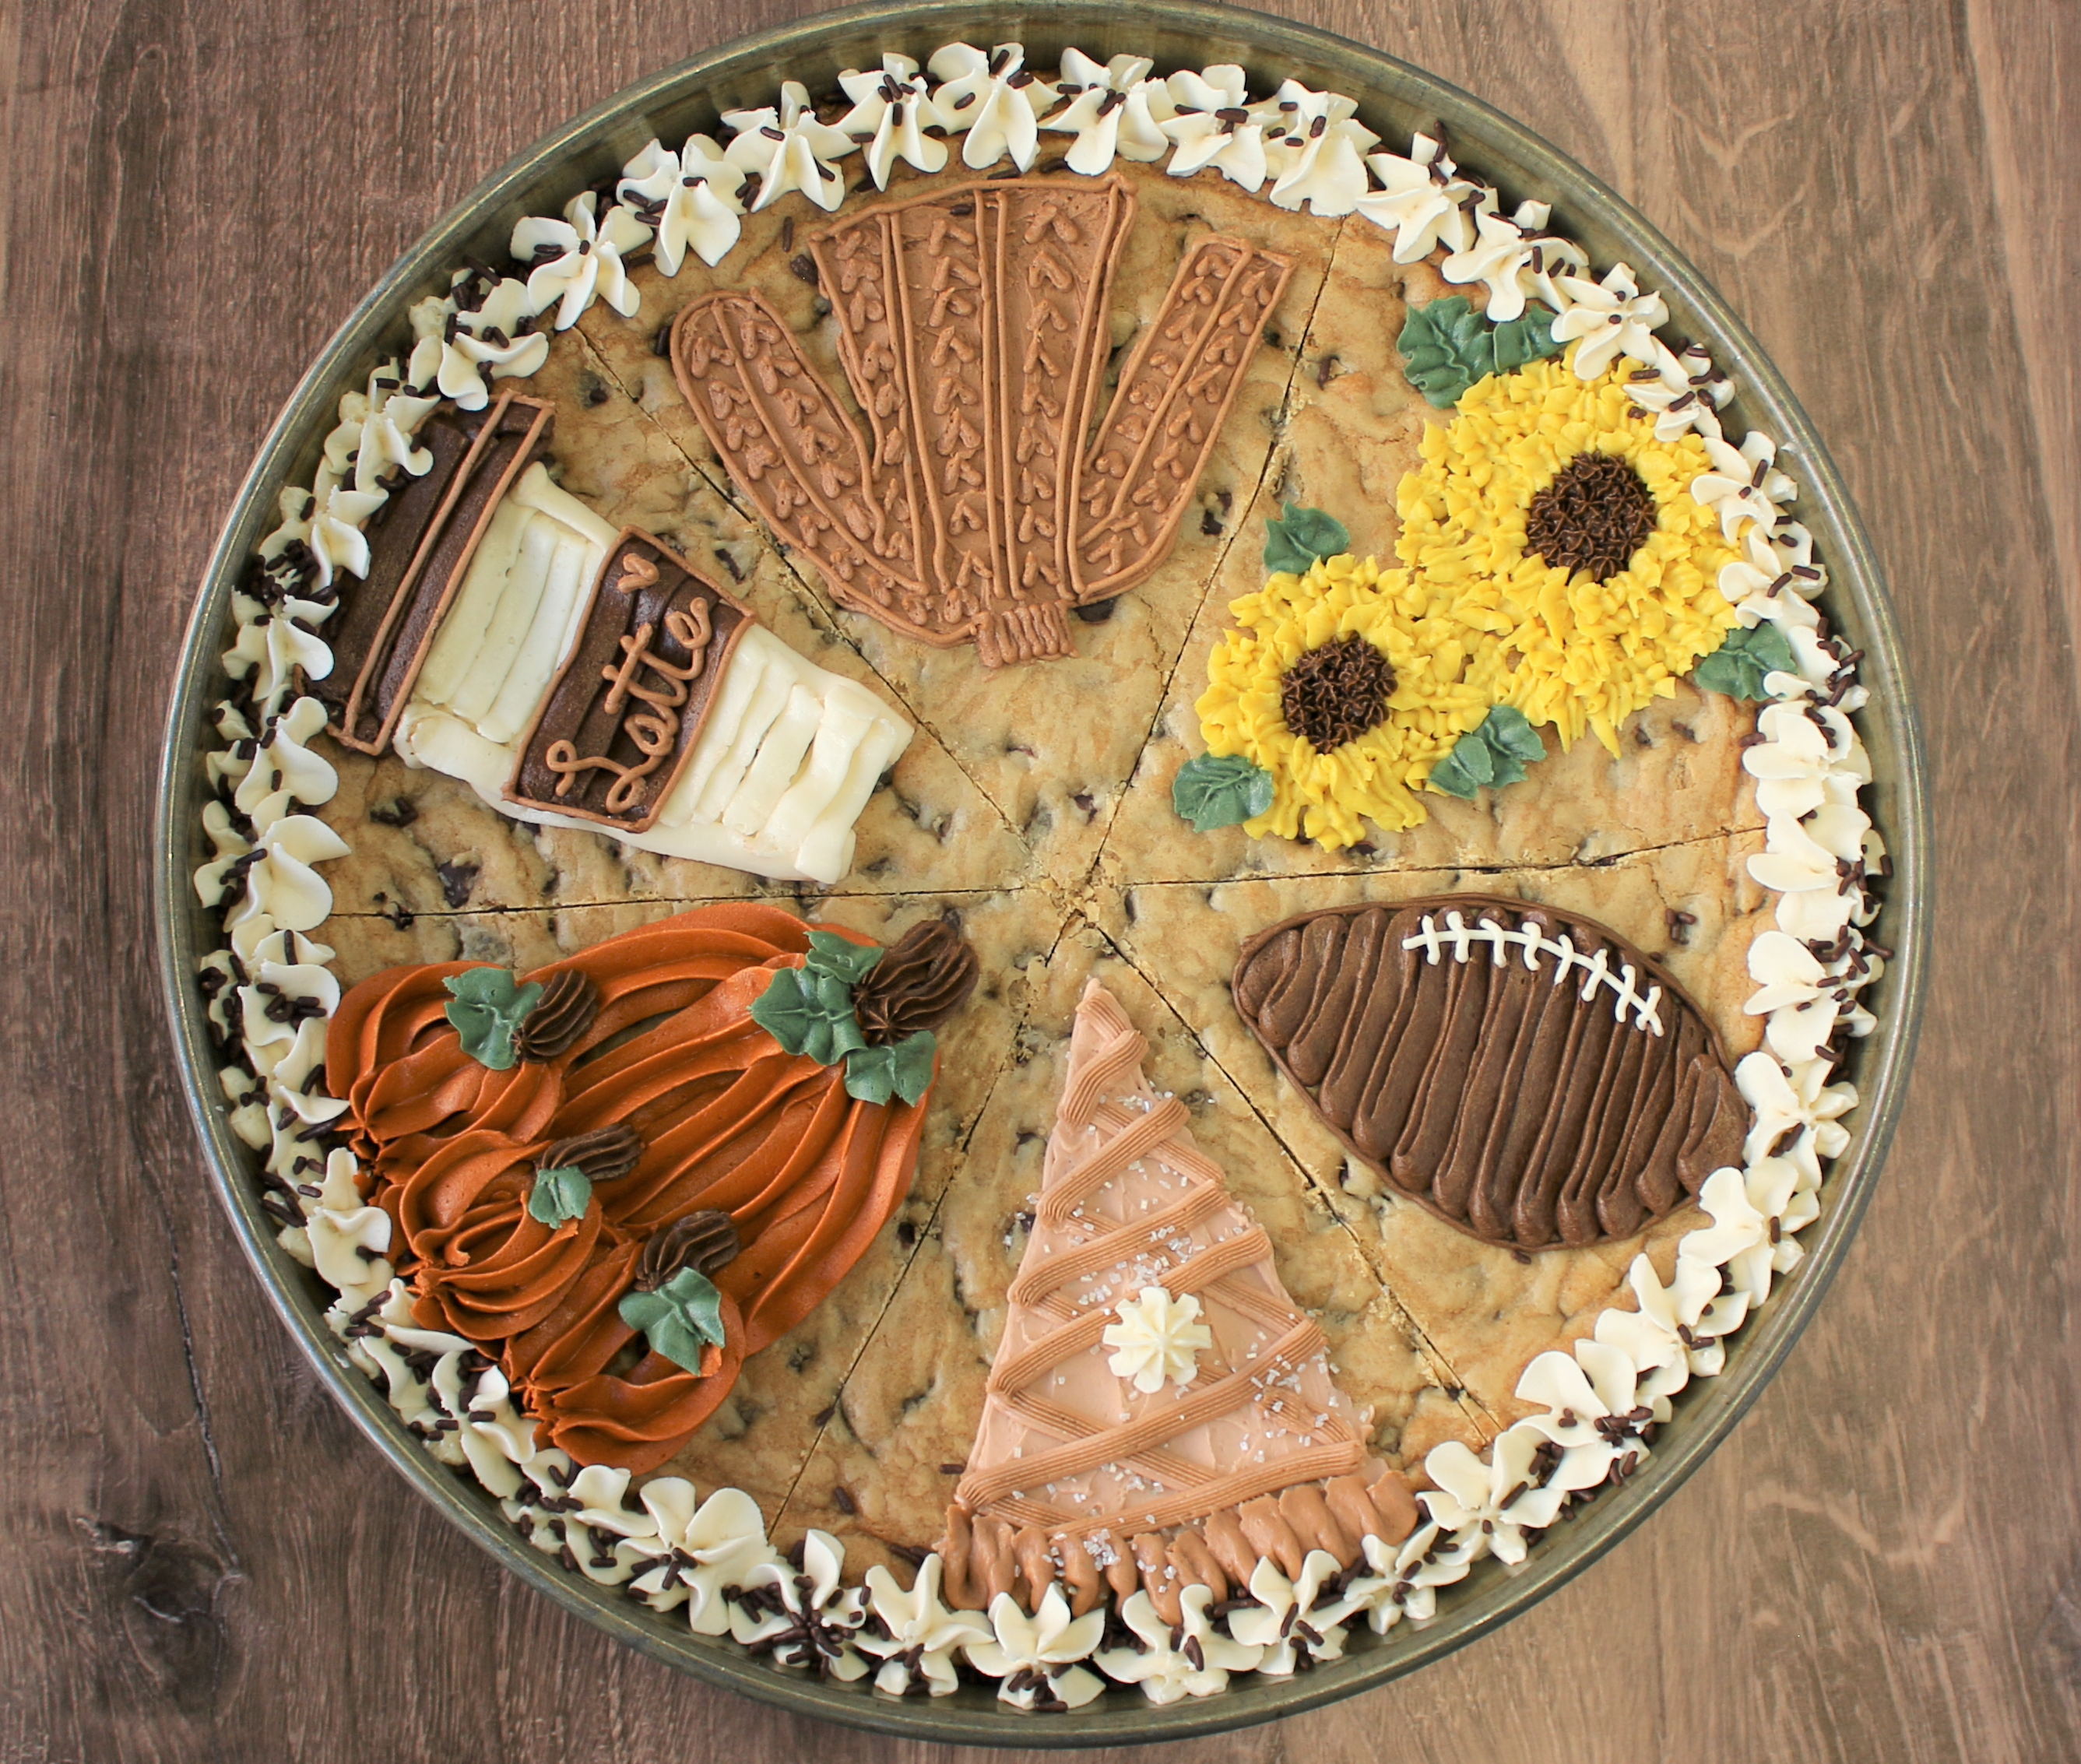
[[[1197,241],[1090,445],[1134,196],[1020,177],[810,239],[868,433],[755,293],[695,300],[672,366],[710,445],[855,612],[984,666],[1068,655],[1070,607],[1163,560],[1288,258]]]

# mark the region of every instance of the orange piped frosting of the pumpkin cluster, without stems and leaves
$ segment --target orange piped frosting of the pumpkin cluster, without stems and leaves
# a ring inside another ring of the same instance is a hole
[[[930,1090],[859,1102],[843,1061],[785,1053],[749,1015],[807,949],[801,919],[760,905],[608,938],[520,976],[583,974],[599,1009],[554,1059],[508,1071],[470,1059],[445,1017],[443,982],[479,963],[391,967],[333,1017],[327,1084],[348,1098],[416,1319],[493,1356],[583,1464],[641,1473],[670,1458],[745,1354],[807,1317],[909,1190]],[[537,1155],[610,1125],[643,1140],[635,1169],[595,1184],[583,1217],[535,1219]],[[695,1211],[726,1213],[741,1250],[714,1273],[724,1340],[687,1371],[618,1306],[643,1240]]]

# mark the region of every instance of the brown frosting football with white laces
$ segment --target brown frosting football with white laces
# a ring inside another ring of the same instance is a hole
[[[1632,1238],[1742,1159],[1748,1105],[1704,1013],[1577,913],[1301,913],[1242,946],[1234,998],[1346,1150],[1492,1244]]]

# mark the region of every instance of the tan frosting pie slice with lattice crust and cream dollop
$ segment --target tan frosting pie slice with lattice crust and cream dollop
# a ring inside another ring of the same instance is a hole
[[[1178,1620],[1259,1558],[1299,1575],[1415,1525],[1365,1448],[1321,1327],[1271,1242],[1142,1075],[1149,1042],[1097,980],[1076,1009],[1034,1223],[941,1546],[949,1587],[1072,1610],[1147,1591]]]

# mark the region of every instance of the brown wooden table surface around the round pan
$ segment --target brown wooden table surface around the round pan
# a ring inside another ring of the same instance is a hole
[[[304,362],[508,154],[795,10],[0,6],[0,653],[23,734],[0,782],[4,1760],[926,1756],[622,1652],[397,1485],[208,1196],[152,971],[173,661]],[[2081,6],[1286,10],[1538,129],[1761,333],[1892,578],[1935,761],[1939,938],[1862,1236],[1709,1467],[1444,1664],[1167,1756],[2081,1756]]]

